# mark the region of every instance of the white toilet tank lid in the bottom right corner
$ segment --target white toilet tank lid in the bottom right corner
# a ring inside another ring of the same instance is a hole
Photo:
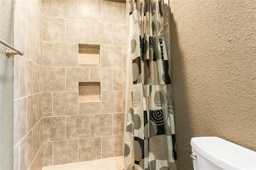
[[[256,170],[256,152],[222,138],[195,137],[190,142],[196,153],[224,170]]]

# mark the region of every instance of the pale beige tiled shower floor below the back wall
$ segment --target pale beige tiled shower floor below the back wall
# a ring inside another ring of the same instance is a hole
[[[44,166],[42,170],[122,170],[123,156],[76,162],[54,166]]]

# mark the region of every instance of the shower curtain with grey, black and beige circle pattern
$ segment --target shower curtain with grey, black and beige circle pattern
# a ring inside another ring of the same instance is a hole
[[[170,67],[161,0],[127,0],[124,170],[176,170]]]

